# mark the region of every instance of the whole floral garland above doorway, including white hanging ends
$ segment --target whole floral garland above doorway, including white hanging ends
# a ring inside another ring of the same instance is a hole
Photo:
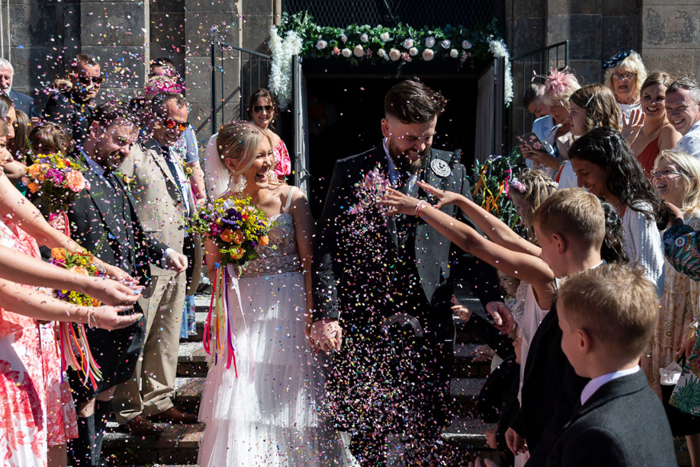
[[[452,60],[462,66],[468,59],[505,59],[506,106],[513,102],[510,54],[494,19],[486,26],[467,29],[462,25],[416,29],[399,23],[396,27],[351,24],[345,28],[319,26],[305,12],[282,15],[279,27],[270,30],[272,66],[270,91],[282,110],[292,96],[293,55],[305,58],[398,62]]]

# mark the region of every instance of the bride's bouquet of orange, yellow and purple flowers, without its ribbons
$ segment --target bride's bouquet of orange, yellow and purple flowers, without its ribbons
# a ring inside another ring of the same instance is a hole
[[[240,274],[260,257],[258,247],[269,244],[270,227],[265,212],[250,198],[226,198],[200,210],[190,231],[213,241],[223,255],[222,264],[235,265]]]

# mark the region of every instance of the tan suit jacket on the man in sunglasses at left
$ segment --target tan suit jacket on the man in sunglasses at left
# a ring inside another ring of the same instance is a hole
[[[173,163],[182,167],[182,160],[175,151],[171,151]],[[129,157],[123,162],[121,171],[134,179],[131,194],[136,200],[136,209],[146,232],[178,253],[182,253],[185,229],[187,227],[187,208],[182,202],[180,190],[173,178],[165,157],[155,140],[134,145]],[[189,181],[183,186],[190,207],[195,202]],[[153,274],[162,275],[166,271],[154,266]]]

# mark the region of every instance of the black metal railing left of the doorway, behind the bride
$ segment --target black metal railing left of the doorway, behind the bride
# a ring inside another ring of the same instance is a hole
[[[224,69],[224,52],[228,50],[236,50],[240,53],[238,80],[239,86],[229,96],[226,96],[225,86],[225,69]],[[217,57],[218,53],[218,57]],[[247,60],[244,59],[244,54],[247,54]],[[220,63],[217,66],[217,58]],[[235,45],[230,45],[225,42],[215,41],[211,43],[211,133],[219,131],[217,112],[221,112],[221,123],[226,122],[225,108],[226,104],[238,92],[239,99],[239,118],[246,118],[246,100],[257,89],[267,86],[267,78],[270,75],[270,65],[272,57],[254,50],[244,49]],[[247,70],[246,70],[247,68]],[[221,97],[217,98],[216,75],[220,74]],[[246,78],[247,75],[247,78]]]

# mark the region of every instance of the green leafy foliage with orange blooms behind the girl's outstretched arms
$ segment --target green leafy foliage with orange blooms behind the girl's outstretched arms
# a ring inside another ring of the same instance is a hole
[[[475,203],[527,238],[515,206],[508,197],[508,182],[514,175],[518,157],[519,154],[514,150],[505,156],[489,156],[483,162],[475,160],[470,183]]]

